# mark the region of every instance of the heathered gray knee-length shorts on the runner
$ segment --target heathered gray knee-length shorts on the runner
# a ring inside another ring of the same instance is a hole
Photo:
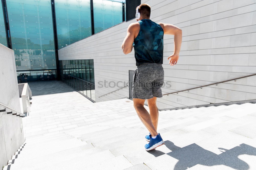
[[[161,87],[164,84],[164,69],[162,64],[143,63],[137,66],[133,74],[132,98],[161,98]]]

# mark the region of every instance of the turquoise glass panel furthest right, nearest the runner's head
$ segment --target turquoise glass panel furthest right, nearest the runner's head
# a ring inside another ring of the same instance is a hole
[[[100,32],[123,22],[123,4],[93,0],[94,32]]]

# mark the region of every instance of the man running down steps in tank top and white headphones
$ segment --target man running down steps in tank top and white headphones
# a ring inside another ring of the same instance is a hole
[[[182,43],[181,29],[172,24],[151,21],[150,13],[151,7],[148,4],[136,7],[136,22],[127,28],[122,44],[124,54],[131,53],[134,47],[137,68],[133,75],[132,97],[138,117],[150,132],[145,137],[149,141],[145,145],[147,151],[164,144],[160,133],[157,133],[159,114],[156,106],[156,99],[163,97],[161,87],[164,83],[164,34],[174,35],[174,53],[167,58],[171,66],[177,64]],[[144,108],[145,100],[150,114]]]

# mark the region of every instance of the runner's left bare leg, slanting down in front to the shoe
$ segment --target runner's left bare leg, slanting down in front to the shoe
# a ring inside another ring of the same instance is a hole
[[[157,136],[158,133],[152,123],[151,116],[144,108],[145,99],[135,99],[133,98],[133,106],[137,112],[138,117],[141,119],[141,122],[146,126],[148,131],[150,131],[152,136]]]

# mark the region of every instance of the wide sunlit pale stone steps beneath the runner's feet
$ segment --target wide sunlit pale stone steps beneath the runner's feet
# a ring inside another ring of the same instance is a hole
[[[159,111],[165,145],[148,152],[131,100],[88,108],[97,121],[26,137],[3,169],[256,169],[256,104]]]

